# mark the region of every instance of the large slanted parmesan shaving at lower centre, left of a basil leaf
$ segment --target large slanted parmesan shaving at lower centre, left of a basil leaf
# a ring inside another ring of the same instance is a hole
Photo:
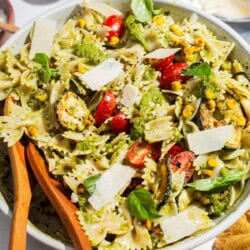
[[[88,199],[89,203],[96,210],[102,208],[129,185],[135,172],[129,166],[114,164],[96,182],[96,189]]]

